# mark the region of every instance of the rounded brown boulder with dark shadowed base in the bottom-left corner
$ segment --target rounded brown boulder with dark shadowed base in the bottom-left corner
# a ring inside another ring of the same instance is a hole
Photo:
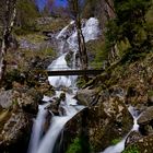
[[[26,152],[32,117],[24,111],[11,113],[0,133],[0,152]]]

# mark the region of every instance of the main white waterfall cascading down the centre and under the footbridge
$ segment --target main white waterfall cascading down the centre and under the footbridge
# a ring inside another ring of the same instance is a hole
[[[69,32],[69,26],[74,24],[71,22],[68,26],[66,26],[58,35],[57,40],[59,40],[59,55],[60,57],[52,61],[52,63],[48,67],[48,70],[70,70],[75,69],[75,54],[78,51],[78,40],[76,40],[76,32]],[[85,38],[85,42],[91,39],[96,39],[99,35],[98,21],[94,17],[91,17],[86,21],[85,26],[82,27],[82,32]],[[66,56],[68,52],[63,54],[62,49],[64,44],[68,44],[69,49],[73,51],[73,68],[69,68],[66,61]],[[62,91],[62,87],[74,87],[76,76],[49,76],[48,78],[50,84],[58,90]],[[75,87],[74,87],[75,89]],[[56,97],[59,97],[61,91],[56,92]],[[46,105],[39,106],[39,111],[37,118],[34,122],[32,139],[30,143],[28,153],[52,153],[54,148],[57,141],[58,136],[60,134],[62,128],[66,122],[70,120],[76,113],[83,109],[83,106],[79,106],[76,101],[73,98],[75,95],[75,91],[71,91],[70,93],[66,93],[66,101],[61,101],[59,107],[62,107],[64,115],[62,116],[52,116],[50,120],[50,127],[48,131],[43,136],[42,131],[45,123],[45,118],[47,114]],[[44,96],[44,101],[50,101],[51,97]]]

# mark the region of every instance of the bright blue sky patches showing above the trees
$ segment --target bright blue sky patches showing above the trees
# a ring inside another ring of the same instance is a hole
[[[43,10],[43,8],[46,3],[46,0],[36,0],[36,1],[37,1],[39,10]],[[55,0],[55,2],[57,5],[62,5],[62,7],[67,5],[67,0]]]

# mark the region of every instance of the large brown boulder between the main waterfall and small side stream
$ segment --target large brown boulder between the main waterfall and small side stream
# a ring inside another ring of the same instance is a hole
[[[86,93],[85,90],[84,93]],[[117,96],[118,93],[116,95],[115,93],[115,91],[111,91],[111,94],[108,91],[99,93],[95,106],[85,108],[67,123],[66,146],[72,142],[73,138],[86,134],[86,142],[94,152],[99,152],[110,145],[114,139],[122,138],[130,131],[132,117],[123,104],[123,99]],[[84,95],[86,99],[92,99],[92,96],[91,94],[91,98],[89,98],[86,94]]]

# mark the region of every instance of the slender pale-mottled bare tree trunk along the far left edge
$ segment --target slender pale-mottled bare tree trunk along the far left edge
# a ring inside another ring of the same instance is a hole
[[[15,15],[16,15],[16,0],[12,1],[13,3],[11,3],[11,0],[7,0],[5,1],[5,10],[4,10],[4,27],[3,27],[3,35],[2,35],[2,45],[1,45],[1,49],[0,49],[0,83],[3,79],[4,75],[4,71],[7,68],[7,61],[5,61],[5,55],[7,55],[7,50],[9,48],[9,37],[11,35],[13,25],[14,25],[14,21],[15,21]],[[12,11],[11,11],[12,8]],[[10,16],[10,11],[11,16]]]

